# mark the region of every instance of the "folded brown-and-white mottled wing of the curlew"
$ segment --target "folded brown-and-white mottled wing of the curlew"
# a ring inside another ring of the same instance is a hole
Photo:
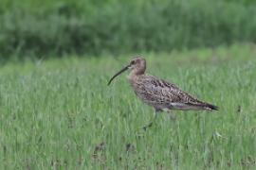
[[[149,104],[170,104],[198,105],[203,102],[192,97],[189,93],[181,91],[177,86],[155,76],[143,76],[137,88],[137,94]]]

